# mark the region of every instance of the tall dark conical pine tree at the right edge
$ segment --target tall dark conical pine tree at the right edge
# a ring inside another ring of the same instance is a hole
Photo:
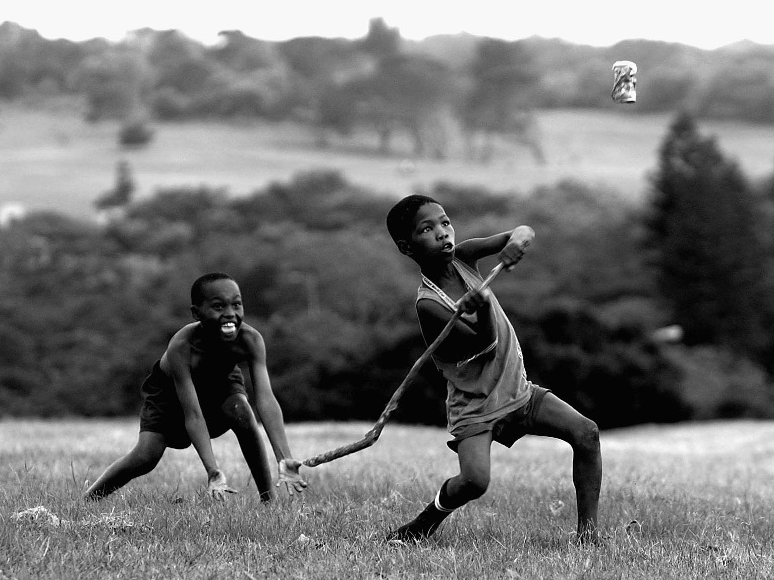
[[[760,355],[763,244],[738,164],[680,114],[652,177],[649,250],[657,288],[687,344]]]

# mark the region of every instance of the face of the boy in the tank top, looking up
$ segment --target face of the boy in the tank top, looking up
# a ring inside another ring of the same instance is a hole
[[[454,227],[444,208],[425,203],[416,211],[409,240],[399,244],[400,251],[414,260],[451,261],[454,258]]]

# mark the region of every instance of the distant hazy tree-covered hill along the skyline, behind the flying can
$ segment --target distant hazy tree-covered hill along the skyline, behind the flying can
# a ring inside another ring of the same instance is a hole
[[[320,146],[366,129],[382,152],[402,133],[416,155],[439,158],[453,131],[481,161],[501,134],[525,142],[541,162],[532,111],[611,106],[611,63],[621,59],[639,64],[637,111],[774,122],[772,46],[704,50],[628,40],[595,48],[471,35],[412,42],[378,18],[360,39],[270,42],[226,30],[214,46],[174,29],[138,29],[118,43],[48,40],[4,22],[0,97],[78,95],[94,122],[291,120],[307,125]]]

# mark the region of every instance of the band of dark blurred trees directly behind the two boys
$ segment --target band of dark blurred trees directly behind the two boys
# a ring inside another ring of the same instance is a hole
[[[385,231],[394,198],[326,171],[239,197],[200,186],[133,200],[130,181],[122,168],[102,224],[38,212],[0,229],[0,415],[135,412],[190,322],[191,282],[219,270],[265,336],[289,421],[378,416],[425,348],[416,266]],[[573,181],[422,193],[460,239],[535,228],[493,288],[530,379],[601,427],[774,416],[774,175],[749,183],[681,114],[651,185],[647,203]],[[659,338],[665,326],[682,339]],[[396,420],[442,425],[444,398],[428,365]]]

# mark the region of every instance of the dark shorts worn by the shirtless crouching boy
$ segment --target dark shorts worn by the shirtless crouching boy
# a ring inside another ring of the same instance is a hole
[[[207,389],[207,394],[203,395],[197,389],[197,395],[210,437],[216,438],[231,428],[222,411],[224,401],[237,393],[246,397],[247,390],[239,367],[234,367],[228,376],[208,383],[202,388],[202,391]],[[159,361],[156,361],[153,370],[143,381],[140,394],[140,431],[161,433],[166,438],[166,445],[173,449],[187,448],[191,440],[186,430],[183,407],[177,398],[174,381],[163,373]]]

